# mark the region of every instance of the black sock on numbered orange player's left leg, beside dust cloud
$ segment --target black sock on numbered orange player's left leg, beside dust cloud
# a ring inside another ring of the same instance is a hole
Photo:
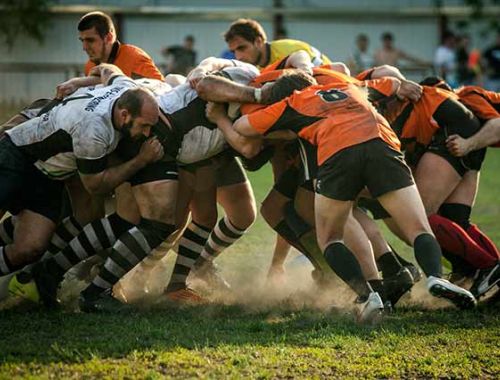
[[[337,276],[359,296],[367,297],[371,293],[370,285],[365,280],[358,260],[343,243],[335,242],[326,247],[325,259]]]

